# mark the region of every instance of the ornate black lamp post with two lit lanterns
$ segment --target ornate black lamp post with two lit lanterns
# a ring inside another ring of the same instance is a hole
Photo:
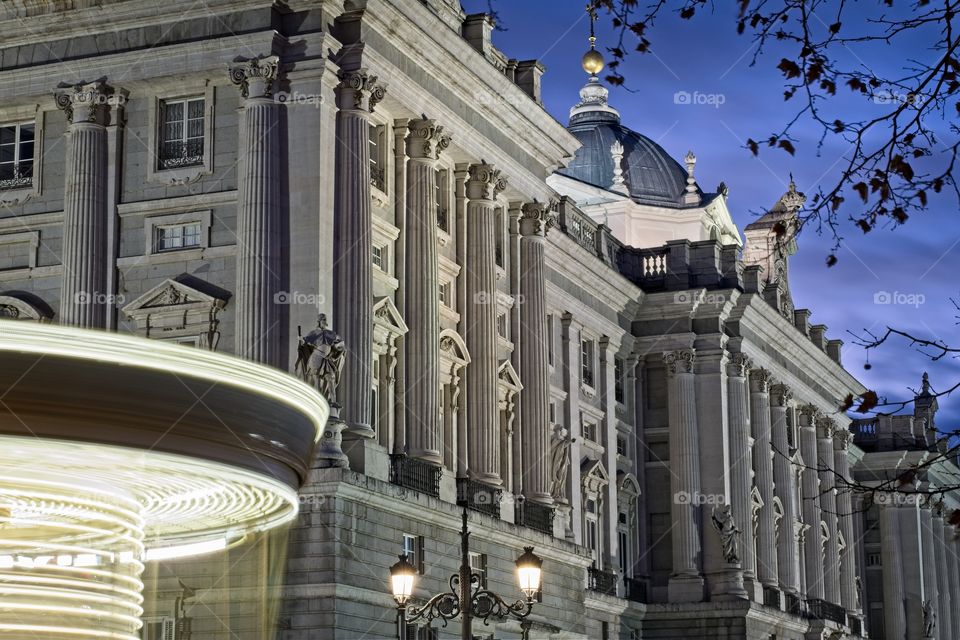
[[[516,618],[523,628],[526,638],[529,625],[526,618],[533,609],[534,597],[540,590],[543,561],[533,553],[533,547],[524,547],[523,554],[517,558],[517,580],[525,599],[508,604],[503,598],[486,589],[480,575],[470,570],[470,531],[467,528],[467,506],[465,503],[460,528],[460,570],[450,576],[450,590],[431,597],[422,607],[408,605],[413,594],[416,569],[407,560],[406,554],[390,567],[390,582],[393,599],[397,602],[397,638],[407,640],[407,623],[425,619],[431,622],[440,619],[443,626],[448,620],[462,615],[460,627],[462,640],[472,640],[473,619],[479,618],[489,624],[490,618]]]

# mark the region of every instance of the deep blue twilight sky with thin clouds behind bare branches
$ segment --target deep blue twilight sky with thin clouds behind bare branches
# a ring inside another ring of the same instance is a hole
[[[736,4],[715,3],[712,13],[692,21],[675,15],[658,19],[647,34],[653,53],[633,53],[623,65],[632,92],[612,88],[610,103],[625,125],[652,138],[673,157],[680,159],[693,150],[701,188],[713,191],[720,181],[726,182],[730,212],[742,229],[757,212],[776,202],[786,190],[790,172],[807,194],[820,183],[836,180],[846,143],[828,139],[818,156],[819,131],[802,127],[794,133],[796,156],[764,147],[754,157],[744,148],[747,138],[766,139],[794,115],[793,103],[783,101],[783,80],[775,67],[781,57],[796,58],[796,51],[772,48],[750,66],[755,45],[749,34],[736,33]],[[468,13],[484,12],[488,3],[464,0],[463,6]],[[494,33],[494,44],[512,58],[539,59],[546,66],[544,105],[564,124],[586,81],[580,68],[588,47],[585,6],[586,0],[494,2],[506,29]],[[614,35],[604,14],[597,22],[597,36],[597,48],[605,52]],[[889,75],[901,71],[905,58],[924,56],[920,38],[921,34],[912,37],[913,42],[902,43],[901,49],[878,45],[843,52],[852,57],[842,61]],[[692,99],[677,104],[678,92]],[[834,116],[841,119],[849,119],[851,113],[870,114],[874,108],[882,107],[866,104],[845,89],[838,90],[833,101]],[[946,126],[939,133],[943,142],[953,142]],[[852,200],[848,196],[845,208],[851,208]],[[844,217],[849,213],[853,211]],[[930,372],[934,390],[960,380],[956,359],[930,362],[904,341],[873,350],[872,368],[865,370],[865,353],[852,344],[848,333],[862,334],[865,328],[882,333],[891,325],[960,345],[958,312],[950,301],[960,295],[960,214],[955,198],[931,199],[927,212],[915,214],[899,228],[878,228],[864,235],[847,223],[841,235],[845,241],[837,254],[840,261],[832,268],[825,265],[832,238],[821,237],[812,228],[799,237],[800,250],[790,267],[797,308],[811,309],[811,322],[828,325],[828,336],[846,343],[845,366],[868,388],[890,399],[912,396],[910,389],[919,387],[923,371]],[[878,304],[875,299],[892,303]],[[942,398],[940,405],[938,426],[960,429],[960,398],[956,394]]]

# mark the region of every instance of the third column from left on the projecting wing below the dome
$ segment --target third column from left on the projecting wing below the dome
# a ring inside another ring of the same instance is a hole
[[[764,587],[776,589],[777,532],[773,508],[773,444],[770,436],[770,372],[754,369],[750,372],[750,426],[753,429],[753,468],[756,487],[763,500],[760,521],[757,523],[757,578]]]

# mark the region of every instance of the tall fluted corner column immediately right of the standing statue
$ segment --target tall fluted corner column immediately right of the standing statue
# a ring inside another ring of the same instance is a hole
[[[337,86],[334,192],[334,287],[336,329],[347,352],[340,378],[342,417],[349,433],[375,434],[370,426],[373,389],[372,217],[369,117],[384,96],[377,77],[347,71]],[[409,281],[409,278],[408,278]],[[409,381],[407,381],[409,384]]]

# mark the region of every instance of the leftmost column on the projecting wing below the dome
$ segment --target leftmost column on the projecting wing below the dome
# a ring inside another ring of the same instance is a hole
[[[700,574],[700,466],[697,390],[693,349],[663,354],[667,368],[670,428],[670,489],[673,494],[673,573],[671,602],[703,599]]]

